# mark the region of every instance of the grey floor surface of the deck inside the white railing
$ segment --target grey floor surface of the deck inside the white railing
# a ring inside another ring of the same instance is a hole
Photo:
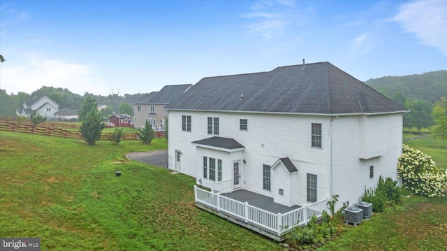
[[[244,189],[235,190],[232,193],[221,194],[221,196],[226,196],[227,198],[234,199],[236,201],[248,202],[251,206],[256,206],[256,208],[261,208],[270,213],[287,213],[291,210],[301,208],[300,206],[284,206],[273,202],[273,198],[264,196],[261,194],[256,194],[254,192],[249,192]]]

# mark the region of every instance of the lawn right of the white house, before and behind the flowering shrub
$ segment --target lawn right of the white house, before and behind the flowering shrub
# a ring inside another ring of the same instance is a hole
[[[447,168],[447,143],[432,138],[404,141]],[[411,196],[386,208],[318,250],[447,250],[447,199]]]

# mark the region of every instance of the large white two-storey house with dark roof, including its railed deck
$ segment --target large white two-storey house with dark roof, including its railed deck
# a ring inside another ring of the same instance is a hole
[[[271,238],[397,179],[406,110],[329,62],[203,78],[167,108],[168,168],[211,190],[196,206]]]

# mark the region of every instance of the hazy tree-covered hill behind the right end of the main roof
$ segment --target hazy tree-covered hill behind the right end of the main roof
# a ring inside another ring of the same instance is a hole
[[[431,71],[402,77],[386,76],[365,82],[382,94],[393,98],[396,92],[402,92],[407,98],[422,99],[434,103],[447,96],[447,71]]]

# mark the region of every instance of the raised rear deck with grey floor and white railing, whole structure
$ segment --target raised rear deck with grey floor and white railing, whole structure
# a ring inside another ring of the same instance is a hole
[[[194,186],[196,206],[226,220],[240,224],[283,241],[286,231],[295,226],[304,226],[312,215],[321,217],[327,198],[303,206],[284,206],[274,203],[268,196],[244,189],[230,193],[212,193]]]

